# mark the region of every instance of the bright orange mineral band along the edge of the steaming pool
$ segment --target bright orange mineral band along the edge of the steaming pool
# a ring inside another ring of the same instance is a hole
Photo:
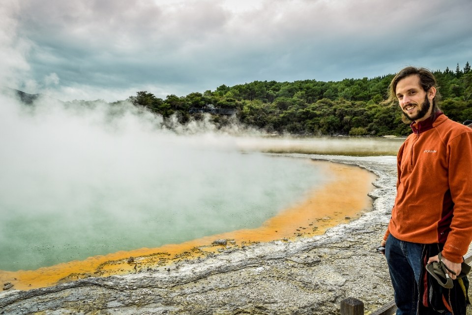
[[[313,163],[322,165],[326,176],[330,176],[332,180],[313,189],[303,201],[285,209],[258,228],[211,235],[159,248],[93,256],[37,270],[0,270],[0,282],[10,282],[15,289],[28,290],[86,277],[135,273],[147,267],[205,257],[222,248],[323,234],[327,228],[359,217],[362,212],[372,208],[372,200],[367,193],[374,189],[371,184],[375,180],[374,174],[347,164],[324,161]],[[225,241],[213,243],[215,240]]]

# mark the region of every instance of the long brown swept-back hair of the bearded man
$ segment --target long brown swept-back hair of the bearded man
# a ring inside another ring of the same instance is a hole
[[[411,75],[417,75],[419,77],[419,83],[421,84],[421,87],[423,88],[424,92],[428,93],[431,87],[435,87],[436,89],[438,89],[437,87],[438,83],[436,82],[436,78],[434,77],[434,74],[431,71],[429,71],[426,68],[417,68],[413,66],[408,66],[400,70],[393,77],[392,82],[390,82],[390,86],[388,87],[388,98],[383,101],[383,104],[398,105],[398,98],[395,93],[397,90],[397,84],[400,80],[405,79],[406,77],[409,77]],[[433,98],[433,111],[432,111],[433,119],[435,118],[436,113],[441,110],[438,105],[440,98],[441,98],[441,95],[439,94],[438,91],[436,91],[436,95]],[[402,121],[406,124],[410,124],[412,122],[403,113],[402,113]]]

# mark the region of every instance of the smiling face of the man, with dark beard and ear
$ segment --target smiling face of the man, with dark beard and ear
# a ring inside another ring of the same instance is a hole
[[[419,76],[410,75],[398,81],[395,93],[400,108],[411,121],[417,123],[431,116],[431,102],[436,89],[431,88],[425,92],[421,87]]]

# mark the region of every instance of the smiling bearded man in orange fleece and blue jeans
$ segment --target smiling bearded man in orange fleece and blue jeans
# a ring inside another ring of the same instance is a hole
[[[429,70],[406,67],[393,78],[385,101],[398,103],[413,129],[398,152],[397,195],[382,241],[397,315],[465,315],[468,302],[467,278],[455,280],[450,291],[432,292],[425,271],[441,252],[456,279],[472,241],[472,129],[440,111],[436,85]],[[435,294],[442,295],[433,300]]]

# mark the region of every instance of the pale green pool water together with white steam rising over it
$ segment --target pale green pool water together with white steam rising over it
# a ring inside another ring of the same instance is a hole
[[[329,180],[308,160],[253,152],[266,150],[264,138],[216,133],[208,121],[176,134],[129,104],[24,107],[1,97],[1,270],[258,227]]]

